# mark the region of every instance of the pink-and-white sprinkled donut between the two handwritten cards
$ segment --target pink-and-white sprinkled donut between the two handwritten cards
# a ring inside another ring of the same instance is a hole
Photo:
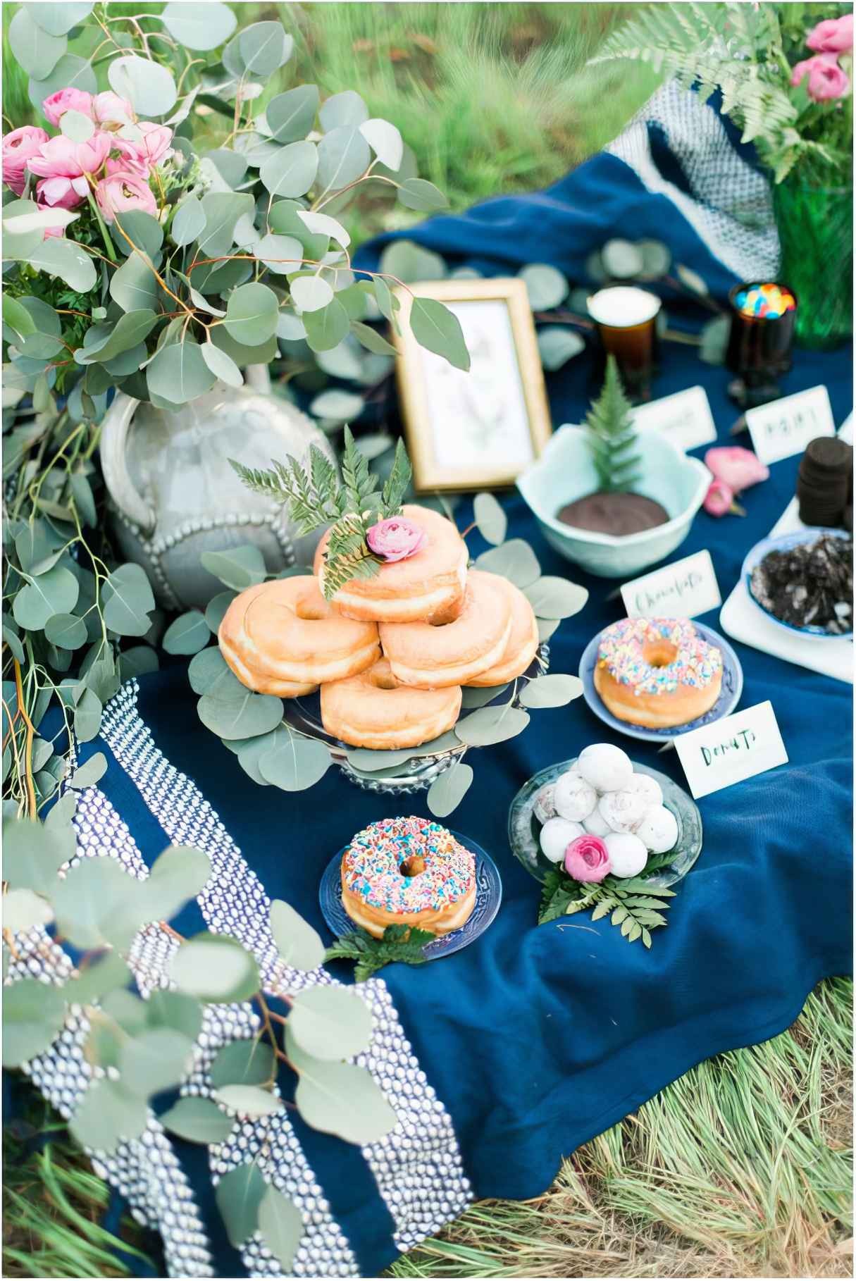
[[[601,635],[595,689],[619,720],[686,725],[719,698],[723,656],[689,619],[621,619]]]

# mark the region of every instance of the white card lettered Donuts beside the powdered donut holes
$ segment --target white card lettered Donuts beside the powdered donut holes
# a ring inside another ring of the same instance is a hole
[[[723,716],[711,725],[677,734],[674,746],[696,799],[788,760],[769,699]]]

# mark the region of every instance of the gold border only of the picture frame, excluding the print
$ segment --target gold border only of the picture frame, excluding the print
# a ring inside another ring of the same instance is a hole
[[[407,288],[396,287],[395,296],[401,301],[399,315],[407,320],[413,297],[436,298],[438,302],[478,302],[500,301],[509,309],[509,322],[523,398],[532,438],[533,457],[538,457],[552,434],[552,421],[547,402],[547,388],[538,352],[534,319],[529,306],[525,282],[519,277],[497,275],[490,279],[431,281],[411,284]],[[465,492],[470,489],[502,489],[511,487],[516,475],[505,468],[490,466],[477,473],[461,475],[460,470],[450,471],[438,468],[431,448],[431,420],[427,412],[427,395],[422,368],[422,348],[410,333],[409,325],[399,334],[392,328],[392,342],[396,347],[396,382],[401,404],[405,439],[413,464],[413,480],[416,493],[432,491]]]

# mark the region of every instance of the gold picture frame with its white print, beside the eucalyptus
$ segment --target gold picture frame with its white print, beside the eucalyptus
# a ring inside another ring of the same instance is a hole
[[[514,484],[552,432],[525,283],[516,277],[440,281],[395,293],[405,323],[392,341],[416,492]],[[406,323],[413,296],[455,311],[470,352],[469,374],[419,346]]]

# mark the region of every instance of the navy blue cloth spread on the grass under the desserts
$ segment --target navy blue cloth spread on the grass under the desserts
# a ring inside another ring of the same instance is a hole
[[[645,192],[613,158],[596,158],[550,192],[433,219],[418,238],[460,261],[475,257],[483,270],[515,270],[537,260],[583,279],[586,254],[605,229],[632,238],[665,236],[715,293],[733,283],[674,206]],[[372,251],[361,259],[364,265],[370,260]],[[548,378],[555,424],[580,420],[589,377],[584,355]],[[666,345],[655,395],[702,383],[727,442],[737,412],[727,382],[727,371],[701,364],[693,348]],[[852,404],[850,352],[797,352],[783,391],[816,383],[829,388],[841,423]],[[775,464],[770,479],[743,496],[743,519],[700,512],[671,559],[709,548],[725,598],[746,551],[792,497],[796,468],[796,459]],[[509,535],[532,542],[545,573],[565,574],[589,591],[584,610],[551,640],[551,670],[575,673],[591,637],[623,612],[620,601],[609,600],[615,584],[586,576],[550,551],[519,497],[507,496],[505,506]],[[464,505],[461,524],[468,515]],[[470,546],[477,553],[483,544],[473,535]],[[704,621],[716,626],[718,616]],[[819,979],[850,971],[851,689],[736,648],[745,673],[742,706],[771,701],[789,761],[700,802],[701,857],[650,951],[628,944],[607,921],[574,917],[537,926],[539,886],[509,849],[507,810],[533,772],[591,742],[619,743],[680,783],[675,753],[657,755],[655,746],[605,730],[579,699],[536,712],[522,737],[469,756],[474,784],[450,822],[495,858],[504,883],[501,911],[465,951],[422,968],[395,965],[382,977],[451,1114],[477,1196],[537,1195],[580,1143],[701,1059],[779,1032]],[[268,893],[287,899],[329,938],[318,907],[328,860],[373,820],[425,815],[424,794],[384,801],[334,770],[304,794],[259,788],[201,726],[195,702],[181,666],[140,681],[140,712],[156,746],[211,801]],[[82,756],[92,751],[106,751],[100,785],[150,862],[167,844],[164,833],[106,744],[85,744]],[[345,965],[334,970],[341,977],[350,972]],[[306,1126],[300,1138],[364,1275],[375,1275],[396,1249],[366,1164],[356,1149]],[[206,1212],[220,1275],[235,1276],[205,1158],[191,1145],[177,1141],[176,1148]]]

